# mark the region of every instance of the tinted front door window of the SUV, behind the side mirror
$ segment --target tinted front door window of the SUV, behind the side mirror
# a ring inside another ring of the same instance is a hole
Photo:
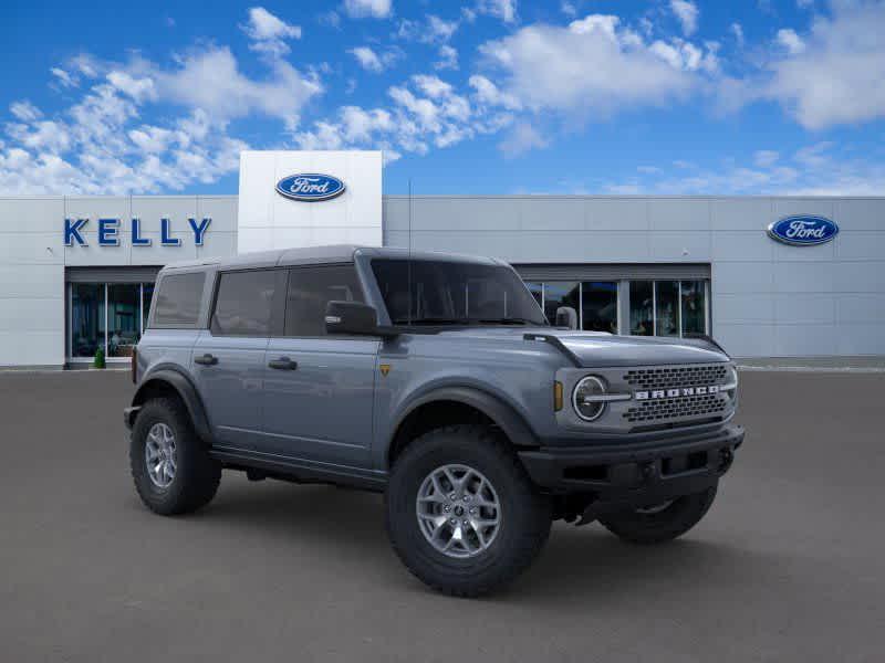
[[[353,265],[290,270],[285,335],[325,336],[325,306],[333,299],[364,301]]]

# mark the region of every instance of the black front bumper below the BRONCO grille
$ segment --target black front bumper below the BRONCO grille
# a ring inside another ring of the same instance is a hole
[[[521,451],[519,457],[532,481],[550,493],[642,506],[714,485],[742,442],[743,428],[728,424],[655,442],[541,446]]]

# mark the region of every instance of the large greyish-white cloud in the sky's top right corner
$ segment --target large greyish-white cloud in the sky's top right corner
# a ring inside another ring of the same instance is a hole
[[[779,101],[809,129],[885,117],[885,2],[836,2],[805,48],[771,65],[757,96]]]

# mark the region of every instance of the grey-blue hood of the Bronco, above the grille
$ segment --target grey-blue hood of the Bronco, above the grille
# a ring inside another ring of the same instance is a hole
[[[580,366],[649,366],[660,364],[715,364],[729,357],[714,344],[699,338],[660,338],[614,336],[597,332],[573,332],[554,327],[483,327],[451,329],[441,333],[475,339],[499,339],[501,343],[544,343],[533,335],[559,339]],[[550,343],[550,341],[546,341]],[[558,345],[555,340],[551,345]]]

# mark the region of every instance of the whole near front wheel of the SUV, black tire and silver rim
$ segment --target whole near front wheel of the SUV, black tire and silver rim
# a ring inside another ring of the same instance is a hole
[[[551,513],[492,430],[438,429],[397,459],[387,532],[406,567],[441,592],[476,597],[522,572],[550,535]]]

